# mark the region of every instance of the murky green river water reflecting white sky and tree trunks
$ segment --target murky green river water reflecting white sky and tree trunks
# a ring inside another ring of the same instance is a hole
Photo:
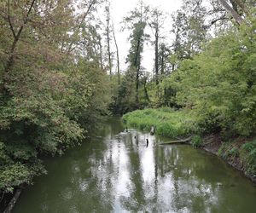
[[[14,212],[256,212],[256,187],[221,159],[124,130],[111,118],[90,141],[47,159],[48,175],[23,191]]]

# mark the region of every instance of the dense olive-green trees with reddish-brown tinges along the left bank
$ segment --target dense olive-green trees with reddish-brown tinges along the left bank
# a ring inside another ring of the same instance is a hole
[[[81,24],[83,12],[66,0],[35,1],[28,10],[30,3],[0,3],[0,194],[44,173],[40,154],[78,144],[110,102],[98,35]]]

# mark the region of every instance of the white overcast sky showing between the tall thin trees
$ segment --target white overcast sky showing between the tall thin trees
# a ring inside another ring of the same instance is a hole
[[[124,71],[127,66],[125,65],[125,58],[128,55],[130,43],[127,40],[129,32],[120,32],[120,28],[122,26],[120,22],[129,13],[129,11],[136,7],[138,2],[139,0],[110,0],[110,12],[115,28],[117,42],[119,45],[119,60],[121,71]],[[172,30],[170,14],[172,14],[172,12],[176,11],[181,7],[182,0],[144,0],[143,2],[149,6],[158,7],[159,9],[162,9],[164,12],[166,12],[167,18],[164,32],[169,33]],[[169,37],[169,39],[172,38]],[[142,66],[146,68],[147,72],[153,72],[154,48],[150,45],[144,46]]]

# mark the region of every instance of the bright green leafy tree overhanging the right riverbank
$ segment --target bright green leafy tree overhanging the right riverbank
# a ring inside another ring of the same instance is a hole
[[[176,91],[170,101],[192,110],[206,133],[251,135],[256,130],[255,17],[248,22],[239,32],[212,39],[163,83]]]

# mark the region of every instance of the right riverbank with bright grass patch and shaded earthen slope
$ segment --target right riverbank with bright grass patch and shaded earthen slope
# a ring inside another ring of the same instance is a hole
[[[196,127],[196,118],[188,111],[174,111],[170,108],[144,109],[129,112],[123,116],[125,124],[140,130],[150,130],[154,125],[155,134],[177,139],[188,135],[194,147],[201,147],[208,153],[223,158],[236,170],[240,170],[256,183],[256,140],[235,137],[224,140],[220,133],[202,134]]]

